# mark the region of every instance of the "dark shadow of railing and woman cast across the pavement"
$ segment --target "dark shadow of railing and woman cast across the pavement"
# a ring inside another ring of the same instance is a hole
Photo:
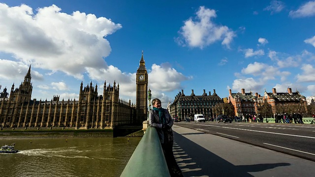
[[[249,172],[261,172],[289,163],[254,164],[235,166],[211,151],[202,148],[184,136],[174,132],[174,150],[183,149],[186,154],[175,150],[174,156],[182,169],[184,177],[253,177]],[[227,150],[229,147],[222,147]],[[179,155],[178,155],[179,154]]]

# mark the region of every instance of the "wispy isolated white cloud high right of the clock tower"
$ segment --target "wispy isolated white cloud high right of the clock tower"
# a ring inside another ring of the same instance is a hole
[[[216,41],[222,40],[221,44],[229,48],[235,32],[226,26],[217,25],[211,21],[216,18],[216,11],[213,9],[200,6],[196,13],[196,21],[189,18],[185,21],[185,25],[181,27],[179,33],[182,35],[177,38],[180,45],[188,45],[189,47],[203,48]]]

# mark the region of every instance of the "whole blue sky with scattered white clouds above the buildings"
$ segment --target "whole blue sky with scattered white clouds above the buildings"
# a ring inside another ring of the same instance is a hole
[[[0,0],[0,91],[32,64],[32,98],[116,80],[135,103],[142,50],[163,103],[181,89],[314,96],[315,0]]]

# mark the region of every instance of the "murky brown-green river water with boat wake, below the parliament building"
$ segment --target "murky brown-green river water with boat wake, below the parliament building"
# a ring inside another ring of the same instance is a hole
[[[0,177],[119,177],[141,137],[0,139]]]

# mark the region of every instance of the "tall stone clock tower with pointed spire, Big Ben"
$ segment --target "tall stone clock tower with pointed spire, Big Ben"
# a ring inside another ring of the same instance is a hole
[[[136,77],[136,123],[142,123],[148,117],[148,72],[143,59],[143,51]]]

